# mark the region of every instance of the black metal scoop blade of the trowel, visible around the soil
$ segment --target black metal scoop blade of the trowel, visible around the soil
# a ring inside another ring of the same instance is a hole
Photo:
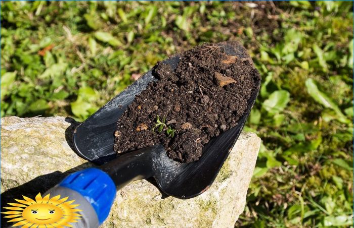
[[[235,45],[235,42],[222,42],[217,45],[222,47],[226,54],[249,59],[245,48],[239,43]],[[178,62],[178,55],[164,61],[172,69],[176,68]],[[156,79],[152,76],[152,71],[150,70],[80,124],[73,136],[78,154],[98,164],[116,157],[113,145],[117,121],[135,96],[142,92],[149,82],[154,80]],[[251,98],[248,100],[248,107],[238,121],[238,125],[212,138],[204,146],[203,155],[198,161],[190,163],[173,161],[166,156],[166,151],[164,151],[162,146],[157,147],[159,149],[154,151],[157,155],[154,156],[152,166],[154,169],[153,177],[161,191],[167,195],[187,199],[201,194],[212,184],[232,147],[235,145],[256,100],[260,81],[256,83],[256,89],[254,89]],[[121,156],[121,159],[124,159],[124,156]]]

